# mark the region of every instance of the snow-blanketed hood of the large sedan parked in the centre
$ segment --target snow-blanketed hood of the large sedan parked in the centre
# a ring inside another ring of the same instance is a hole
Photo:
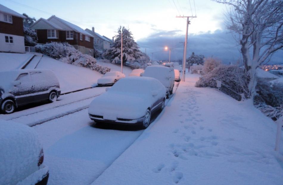
[[[111,116],[123,119],[138,119],[144,116],[152,103],[137,94],[106,92],[96,97],[88,108],[88,113],[97,116]]]

